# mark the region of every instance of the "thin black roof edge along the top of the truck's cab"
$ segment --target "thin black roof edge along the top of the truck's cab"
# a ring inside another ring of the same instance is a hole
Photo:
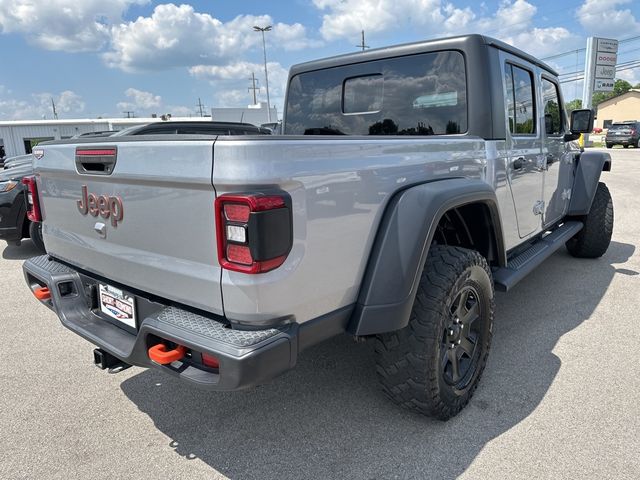
[[[299,63],[291,67],[291,70],[289,71],[289,77],[293,77],[294,75],[297,75],[299,73],[309,72],[313,70],[322,70],[325,68],[339,67],[342,65],[350,65],[354,63],[362,63],[403,55],[414,55],[417,53],[424,53],[429,51],[449,49],[464,51],[469,49],[472,45],[490,45],[499,48],[500,50],[504,50],[505,52],[516,55],[528,62],[533,63],[534,65],[544,68],[553,75],[558,76],[558,72],[556,72],[549,65],[537,59],[533,55],[529,55],[528,53],[523,52],[522,50],[495,38],[479,34],[470,34],[460,35],[457,37],[440,38],[436,40],[404,43],[383,48],[374,48],[365,52],[347,53],[343,55],[337,55],[335,57],[328,57],[311,62]]]

